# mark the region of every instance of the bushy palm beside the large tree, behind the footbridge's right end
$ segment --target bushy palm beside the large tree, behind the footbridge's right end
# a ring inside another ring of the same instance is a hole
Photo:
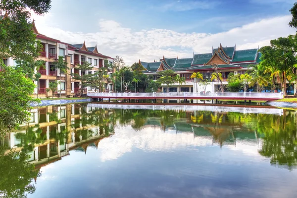
[[[261,64],[253,65],[252,72],[249,75],[251,77],[249,87],[257,84],[257,92],[261,92],[263,86],[271,84],[271,77],[267,72],[265,73],[265,67]]]

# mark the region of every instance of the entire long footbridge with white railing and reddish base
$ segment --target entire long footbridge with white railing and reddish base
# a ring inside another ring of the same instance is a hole
[[[231,100],[275,100],[282,99],[283,93],[88,93],[93,99],[231,99]]]

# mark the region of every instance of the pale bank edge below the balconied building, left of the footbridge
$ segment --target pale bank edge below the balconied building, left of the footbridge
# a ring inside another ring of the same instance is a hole
[[[30,103],[31,106],[49,106],[49,105],[59,105],[68,103],[80,103],[80,102],[91,102],[91,98],[64,98],[64,99],[41,99],[39,103]]]

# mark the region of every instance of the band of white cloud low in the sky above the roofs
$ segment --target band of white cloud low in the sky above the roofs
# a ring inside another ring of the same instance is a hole
[[[63,42],[78,44],[86,41],[87,46],[98,45],[99,52],[114,57],[120,55],[126,64],[141,59],[153,61],[163,55],[167,57],[192,57],[195,53],[211,52],[211,47],[234,46],[237,49],[253,49],[269,45],[271,39],[295,34],[288,23],[291,15],[262,19],[253,23],[216,34],[180,33],[166,29],[133,31],[112,20],[99,20],[99,32],[70,32],[52,24],[50,14],[34,16],[41,34]],[[195,24],[194,24],[195,25]]]

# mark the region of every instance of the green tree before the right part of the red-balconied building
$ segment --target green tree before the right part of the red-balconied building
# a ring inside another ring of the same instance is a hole
[[[93,82],[93,77],[96,75],[95,74],[87,74],[88,70],[92,70],[93,66],[91,63],[88,62],[83,62],[83,64],[78,64],[78,70],[81,70],[81,75],[72,73],[71,75],[73,76],[74,80],[80,80],[81,81],[81,87],[80,87],[80,96],[82,97],[86,90],[87,87],[92,86]]]

